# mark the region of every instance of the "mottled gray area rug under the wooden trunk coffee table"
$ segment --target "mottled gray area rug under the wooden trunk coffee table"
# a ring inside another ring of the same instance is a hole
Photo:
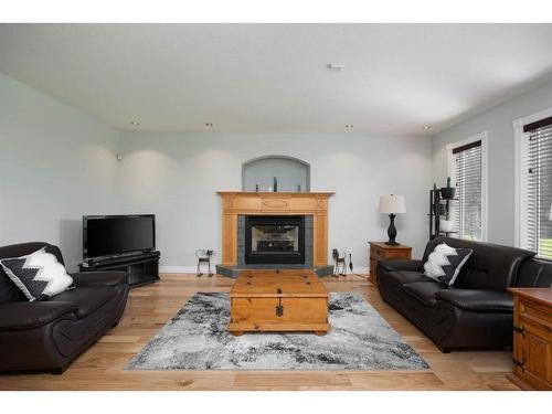
[[[227,294],[195,294],[127,370],[424,370],[427,363],[359,294],[331,294],[323,337],[226,331]]]

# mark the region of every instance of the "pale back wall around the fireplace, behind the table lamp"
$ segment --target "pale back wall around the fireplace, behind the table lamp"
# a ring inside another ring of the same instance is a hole
[[[120,193],[126,213],[157,214],[161,264],[194,266],[199,247],[220,262],[221,202],[216,190],[240,190],[242,162],[264,155],[300,158],[311,166],[311,191],[330,200],[329,248],[352,250],[367,267],[368,244],[386,240],[389,217],[380,194],[406,197],[397,240],[420,256],[427,242],[431,138],[254,134],[121,132]]]

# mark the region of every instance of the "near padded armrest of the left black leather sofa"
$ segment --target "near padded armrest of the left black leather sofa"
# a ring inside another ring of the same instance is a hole
[[[0,330],[41,327],[77,308],[73,301],[7,301],[0,304]]]

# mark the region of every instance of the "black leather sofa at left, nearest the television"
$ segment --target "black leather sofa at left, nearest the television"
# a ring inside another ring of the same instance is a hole
[[[41,242],[0,247],[0,258],[26,255],[44,246],[63,263],[56,246]],[[118,323],[128,297],[127,274],[88,272],[71,276],[74,289],[30,302],[0,268],[0,372],[62,373]]]

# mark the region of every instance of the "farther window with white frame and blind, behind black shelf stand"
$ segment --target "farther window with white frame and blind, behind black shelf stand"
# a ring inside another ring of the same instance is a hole
[[[448,173],[456,185],[450,217],[458,237],[487,240],[486,140],[482,132],[448,146]]]

